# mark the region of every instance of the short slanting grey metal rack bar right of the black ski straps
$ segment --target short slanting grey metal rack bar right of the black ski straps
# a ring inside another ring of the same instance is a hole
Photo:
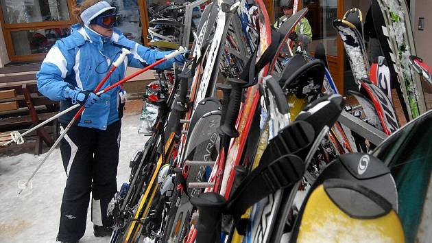
[[[361,119],[347,113],[346,111],[342,111],[339,118],[337,118],[341,124],[344,124],[354,132],[357,132],[361,137],[368,139],[374,145],[379,145],[384,139],[389,137],[381,130],[376,129],[374,126],[363,122]]]

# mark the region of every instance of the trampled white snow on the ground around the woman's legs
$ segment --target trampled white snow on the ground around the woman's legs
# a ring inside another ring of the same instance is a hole
[[[119,172],[117,185],[128,180],[130,157],[142,149],[147,137],[138,134],[139,114],[125,115],[122,120]],[[33,189],[18,194],[18,181],[27,180],[45,154],[0,154],[0,242],[56,242],[60,203],[66,174],[56,149],[33,178]],[[109,242],[95,238],[88,210],[87,227],[80,243]]]

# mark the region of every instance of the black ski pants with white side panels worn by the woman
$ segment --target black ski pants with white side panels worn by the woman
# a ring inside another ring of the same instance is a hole
[[[84,235],[90,193],[93,224],[112,225],[106,210],[117,192],[120,128],[120,121],[106,130],[72,126],[60,141],[67,181],[60,209],[59,241],[77,242]]]

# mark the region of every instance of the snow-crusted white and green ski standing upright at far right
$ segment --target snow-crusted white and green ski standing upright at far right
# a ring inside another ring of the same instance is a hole
[[[407,3],[405,0],[373,0],[372,13],[385,58],[393,66],[390,71],[394,71],[400,84],[407,118],[414,119],[427,108],[420,76],[409,64],[409,56],[416,56],[416,46]]]

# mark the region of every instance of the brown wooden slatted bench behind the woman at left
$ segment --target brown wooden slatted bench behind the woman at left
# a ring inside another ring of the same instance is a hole
[[[29,67],[4,67],[0,74],[18,73],[23,71],[37,71],[40,64]],[[36,126],[40,122],[56,115],[59,103],[49,100],[38,92],[36,74],[25,73],[14,76],[0,76],[0,143],[9,141],[10,132],[18,130],[20,133]],[[50,137],[50,135],[53,137]],[[44,127],[38,128],[29,136],[36,135],[35,154],[40,154],[43,142],[52,146],[58,137],[58,122],[54,120]]]

